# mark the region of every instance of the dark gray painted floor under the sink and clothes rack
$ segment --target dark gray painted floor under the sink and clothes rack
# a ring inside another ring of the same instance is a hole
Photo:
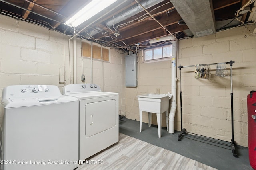
[[[158,138],[158,130],[155,125],[148,127],[147,123],[142,123],[142,132],[140,132],[139,121],[126,118],[119,120],[119,132],[219,170],[253,170],[249,163],[247,147],[236,145],[236,153],[238,154],[238,158],[236,158],[232,154],[231,147],[214,146],[214,143],[204,143],[185,136],[182,137],[181,141],[178,141],[180,132],[175,131],[174,134],[169,134],[166,128],[162,128],[162,137]]]

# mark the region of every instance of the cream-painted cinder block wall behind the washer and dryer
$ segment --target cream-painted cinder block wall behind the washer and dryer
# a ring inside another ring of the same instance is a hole
[[[60,82],[64,81],[64,57],[66,84],[73,83],[70,81],[73,80],[73,43],[71,40],[69,64],[69,38],[56,31],[0,15],[0,96],[6,86],[20,84],[56,85],[62,92],[64,83]],[[119,93],[119,109],[124,113],[124,55],[109,50],[110,61],[103,62],[103,90]],[[82,83],[81,39],[77,39],[76,51],[77,83]],[[83,58],[86,82],[91,83],[91,59]],[[92,68],[93,83],[101,86],[101,61],[94,59]]]

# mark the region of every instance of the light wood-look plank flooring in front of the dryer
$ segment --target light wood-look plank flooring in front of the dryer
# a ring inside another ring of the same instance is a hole
[[[119,142],[77,170],[216,170],[170,150],[119,133]]]

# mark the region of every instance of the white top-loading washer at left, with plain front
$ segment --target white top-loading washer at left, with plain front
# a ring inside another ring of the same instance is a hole
[[[78,166],[78,100],[52,85],[7,86],[2,93],[2,170]]]

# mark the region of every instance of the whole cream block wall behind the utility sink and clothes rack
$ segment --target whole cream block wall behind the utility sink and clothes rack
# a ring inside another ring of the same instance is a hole
[[[256,90],[256,35],[254,25],[238,27],[214,35],[179,41],[178,64],[182,66],[235,61],[233,64],[234,140],[248,147],[246,97]],[[138,88],[126,88],[126,117],[139,121],[136,95],[171,92],[171,61],[138,62]],[[226,68],[230,72],[230,65]],[[216,65],[211,66],[210,79],[194,78],[194,67],[182,68],[183,128],[199,135],[225,141],[231,139],[230,77],[215,76]],[[180,131],[180,79],[175,129]],[[156,116],[153,114],[153,124]],[[147,113],[142,121],[148,123]],[[165,117],[162,126],[166,127]]]

